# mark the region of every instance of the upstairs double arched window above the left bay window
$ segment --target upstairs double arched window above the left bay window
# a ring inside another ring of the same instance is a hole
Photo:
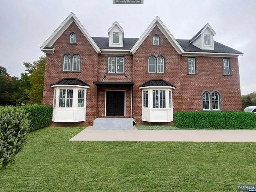
[[[80,62],[80,55],[74,54],[71,57],[70,54],[65,54],[63,57],[62,71],[80,72]]]

